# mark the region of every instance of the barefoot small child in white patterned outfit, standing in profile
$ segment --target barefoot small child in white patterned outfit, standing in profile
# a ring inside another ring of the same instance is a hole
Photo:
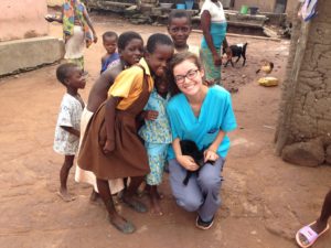
[[[83,71],[73,63],[60,65],[56,69],[56,77],[66,87],[66,94],[63,96],[60,107],[54,139],[54,151],[64,155],[64,163],[60,171],[61,186],[57,194],[65,202],[70,202],[74,197],[67,192],[66,181],[78,150],[81,116],[84,108],[84,101],[78,89],[85,87],[85,78]]]

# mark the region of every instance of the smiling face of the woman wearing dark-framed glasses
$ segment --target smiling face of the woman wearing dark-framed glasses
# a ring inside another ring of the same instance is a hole
[[[186,96],[194,96],[202,88],[203,69],[192,60],[185,60],[173,67],[173,77],[178,88]]]

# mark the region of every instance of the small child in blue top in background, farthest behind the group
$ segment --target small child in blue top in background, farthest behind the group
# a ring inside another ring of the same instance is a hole
[[[107,53],[102,57],[102,71],[105,72],[113,63],[118,63],[119,54],[116,52],[118,36],[115,32],[108,31],[103,34],[103,44]]]

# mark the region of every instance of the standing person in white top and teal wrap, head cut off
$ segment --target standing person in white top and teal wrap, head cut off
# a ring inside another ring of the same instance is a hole
[[[201,60],[205,69],[207,84],[221,83],[222,44],[226,55],[231,57],[231,50],[226,40],[226,19],[221,1],[205,0],[201,8],[201,29],[203,39],[201,42]]]

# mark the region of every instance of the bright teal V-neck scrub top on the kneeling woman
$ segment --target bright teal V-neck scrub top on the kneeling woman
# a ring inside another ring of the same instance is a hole
[[[192,140],[200,150],[209,148],[220,130],[228,132],[237,127],[231,95],[218,85],[209,88],[199,117],[194,116],[188,98],[183,94],[179,94],[170,99],[167,112],[172,139]],[[225,158],[228,149],[229,139],[225,136],[217,149],[217,154]],[[174,158],[173,149],[170,145],[168,159]]]

